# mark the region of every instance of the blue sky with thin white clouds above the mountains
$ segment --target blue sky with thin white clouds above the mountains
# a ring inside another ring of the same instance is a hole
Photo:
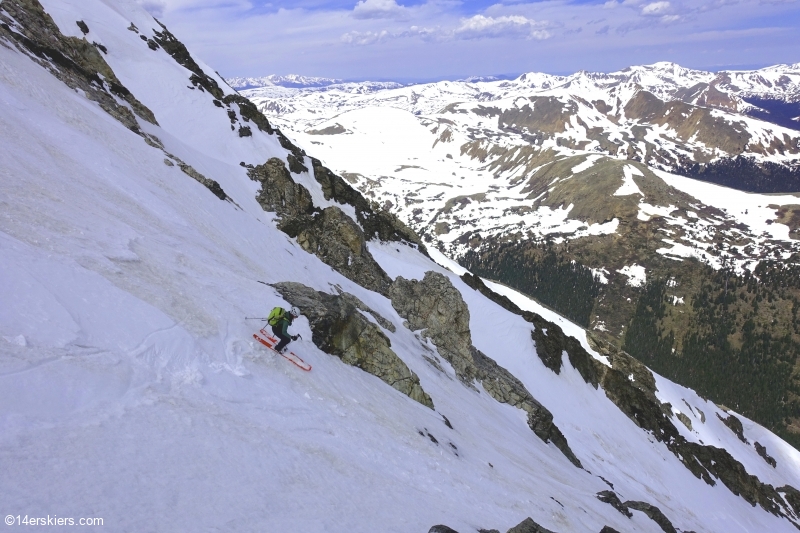
[[[225,77],[430,81],[800,62],[800,0],[136,0]]]

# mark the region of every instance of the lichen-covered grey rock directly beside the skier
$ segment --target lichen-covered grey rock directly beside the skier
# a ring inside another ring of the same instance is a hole
[[[311,340],[320,350],[369,372],[433,409],[433,401],[422,389],[417,375],[392,351],[391,342],[381,329],[358,309],[368,309],[373,316],[380,315],[356,296],[327,294],[294,282],[276,283],[274,287],[308,319]],[[358,307],[351,303],[354,300],[359,302]]]

